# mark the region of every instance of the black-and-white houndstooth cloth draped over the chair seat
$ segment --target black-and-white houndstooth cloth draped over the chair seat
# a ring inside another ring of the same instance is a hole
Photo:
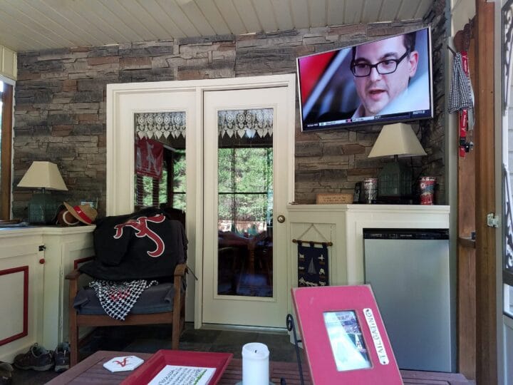
[[[91,281],[89,286],[95,289],[105,313],[114,319],[124,321],[140,294],[154,284],[158,282],[155,280],[147,282],[146,279],[124,282],[96,279]]]

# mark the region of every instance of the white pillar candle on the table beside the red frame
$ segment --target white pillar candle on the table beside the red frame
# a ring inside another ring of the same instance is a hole
[[[269,349],[251,342],[242,347],[242,385],[269,385]]]

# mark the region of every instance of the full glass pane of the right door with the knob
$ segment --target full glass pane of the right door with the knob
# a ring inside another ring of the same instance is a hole
[[[218,295],[273,297],[273,120],[218,112]]]

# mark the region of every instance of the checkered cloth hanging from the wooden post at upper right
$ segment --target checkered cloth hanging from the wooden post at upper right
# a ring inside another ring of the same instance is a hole
[[[462,55],[457,52],[452,61],[452,81],[449,94],[449,113],[474,108],[474,96],[470,78],[463,71]]]

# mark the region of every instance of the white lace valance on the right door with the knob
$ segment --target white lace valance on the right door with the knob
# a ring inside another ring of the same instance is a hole
[[[228,135],[238,135],[239,138],[246,135],[254,138],[255,135],[264,138],[272,136],[274,125],[274,110],[272,108],[259,108],[252,110],[230,110],[218,113],[219,135],[221,138]]]

